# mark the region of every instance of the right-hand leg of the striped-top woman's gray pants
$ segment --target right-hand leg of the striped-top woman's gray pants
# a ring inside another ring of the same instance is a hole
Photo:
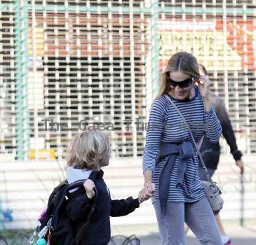
[[[222,245],[213,211],[206,197],[185,204],[185,221],[202,245]]]

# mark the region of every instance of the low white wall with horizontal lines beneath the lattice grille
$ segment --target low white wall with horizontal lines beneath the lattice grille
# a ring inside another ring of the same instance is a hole
[[[245,174],[241,177],[231,155],[221,155],[220,166],[214,180],[222,190],[225,202],[222,221],[239,220],[241,217],[256,219],[255,155],[245,155],[243,160]],[[13,217],[11,222],[4,220],[4,227],[7,230],[34,229],[36,219],[46,206],[53,188],[66,179],[65,166],[64,160],[0,163],[1,169],[4,169],[0,177],[0,204],[3,210],[11,210]],[[112,199],[137,197],[144,183],[142,158],[112,159],[104,172]],[[126,218],[112,218],[112,225],[144,224],[156,224],[150,200]],[[156,229],[152,230],[155,231]]]

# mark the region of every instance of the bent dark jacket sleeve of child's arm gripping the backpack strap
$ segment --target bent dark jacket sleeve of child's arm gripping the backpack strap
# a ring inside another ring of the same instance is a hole
[[[86,194],[78,195],[69,200],[67,204],[67,215],[72,221],[79,221],[81,218],[88,216],[93,207],[93,199],[89,199]]]

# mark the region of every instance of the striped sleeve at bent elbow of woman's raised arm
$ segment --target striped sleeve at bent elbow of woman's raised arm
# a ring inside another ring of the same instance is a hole
[[[220,125],[220,121],[217,118],[213,107],[210,109],[210,111],[204,110],[204,119],[206,136],[213,143],[219,142],[220,136],[222,135],[222,126]]]

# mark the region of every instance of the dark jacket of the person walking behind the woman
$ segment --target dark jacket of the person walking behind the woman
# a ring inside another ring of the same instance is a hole
[[[226,139],[227,144],[229,144],[230,146],[230,151],[234,157],[234,160],[241,160],[243,154],[241,153],[241,151],[238,151],[236,145],[236,137],[231,126],[229,114],[227,113],[227,110],[224,106],[224,103],[222,102],[222,99],[211,92],[210,101],[213,104],[217,118],[220,120],[220,124],[222,125],[222,134]],[[210,140],[207,137],[204,137],[203,143],[200,148],[200,152],[203,157],[203,161],[206,164],[206,167],[210,169],[217,169],[217,165],[220,158],[219,142],[213,143],[210,142]],[[199,164],[201,164],[200,159]]]

